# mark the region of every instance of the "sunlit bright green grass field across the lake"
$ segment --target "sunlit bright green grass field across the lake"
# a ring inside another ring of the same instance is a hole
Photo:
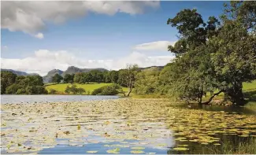
[[[84,90],[86,90],[85,94],[87,94],[88,92],[92,92],[93,90],[95,90],[99,87],[108,86],[112,83],[87,83],[87,84],[72,83],[72,84],[76,84],[77,87],[83,88]],[[49,92],[50,89],[54,89],[54,90],[58,91],[58,94],[65,94],[65,88],[67,86],[71,86],[72,84],[70,84],[70,83],[47,84],[46,90],[48,90],[48,92]],[[128,88],[123,87],[123,90],[126,92],[126,91],[128,91]]]

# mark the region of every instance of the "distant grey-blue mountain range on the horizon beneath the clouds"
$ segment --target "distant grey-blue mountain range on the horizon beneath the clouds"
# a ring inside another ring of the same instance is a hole
[[[150,66],[147,68],[158,68],[161,70],[164,68],[164,66]],[[147,69],[147,68],[139,68],[139,70]],[[53,69],[47,73],[46,76],[43,76],[43,83],[50,83],[51,77],[54,76],[55,74],[65,76],[66,74],[76,74],[77,72],[90,72],[91,70],[98,70],[98,71],[108,71],[106,68],[77,68],[75,66],[69,66],[67,70],[61,71],[59,69]],[[36,73],[27,73],[27,72],[20,72],[20,71],[15,71],[13,69],[1,69],[1,71],[10,71],[13,72],[14,74],[17,74],[17,76],[33,76],[33,75],[39,75]]]

